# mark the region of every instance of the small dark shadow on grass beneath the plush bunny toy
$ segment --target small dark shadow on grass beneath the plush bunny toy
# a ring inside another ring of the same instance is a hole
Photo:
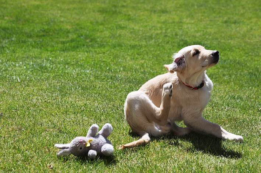
[[[103,162],[106,166],[115,165],[117,163],[117,160],[114,155],[112,156],[97,156],[95,159],[91,160],[88,158],[88,156],[84,157],[77,157],[77,160],[79,160],[82,163],[94,163],[94,162]]]

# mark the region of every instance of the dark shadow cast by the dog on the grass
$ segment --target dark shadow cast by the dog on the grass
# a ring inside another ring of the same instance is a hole
[[[129,132],[132,137],[137,137],[137,134]],[[202,151],[206,154],[214,156],[223,156],[226,158],[241,158],[242,154],[238,151],[233,151],[225,148],[222,145],[222,139],[205,134],[198,134],[191,132],[185,136],[167,135],[163,137],[151,137],[151,141],[158,141],[163,139],[169,141],[169,145],[179,146],[182,145],[180,141],[186,141],[192,143],[193,147],[188,148],[187,152]],[[233,142],[233,141],[231,141]]]

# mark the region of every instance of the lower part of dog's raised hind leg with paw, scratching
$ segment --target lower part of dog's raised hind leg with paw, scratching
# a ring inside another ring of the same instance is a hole
[[[159,108],[155,108],[156,112],[156,119],[157,124],[159,125],[166,125],[168,116],[169,116],[169,110],[170,110],[170,98],[172,96],[172,83],[166,83],[163,85],[162,89],[162,99],[161,99],[161,105]]]

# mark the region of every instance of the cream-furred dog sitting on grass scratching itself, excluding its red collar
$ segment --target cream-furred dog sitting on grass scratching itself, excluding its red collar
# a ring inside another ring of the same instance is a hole
[[[243,141],[242,136],[229,133],[201,116],[213,88],[205,70],[218,62],[218,51],[192,45],[181,49],[173,58],[172,64],[164,65],[168,73],[150,79],[138,91],[128,94],[124,104],[125,118],[133,132],[142,137],[120,148],[147,143],[149,135],[161,136],[169,132],[185,135],[191,130]],[[199,86],[202,81],[204,86],[198,90],[186,86]],[[182,120],[186,128],[175,124]]]

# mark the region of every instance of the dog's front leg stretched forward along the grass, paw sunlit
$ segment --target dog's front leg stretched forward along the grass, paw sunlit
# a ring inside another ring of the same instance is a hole
[[[211,123],[202,116],[184,116],[184,123],[192,130],[215,135],[218,138],[229,139],[231,141],[243,141],[243,137],[229,133],[216,123]]]

